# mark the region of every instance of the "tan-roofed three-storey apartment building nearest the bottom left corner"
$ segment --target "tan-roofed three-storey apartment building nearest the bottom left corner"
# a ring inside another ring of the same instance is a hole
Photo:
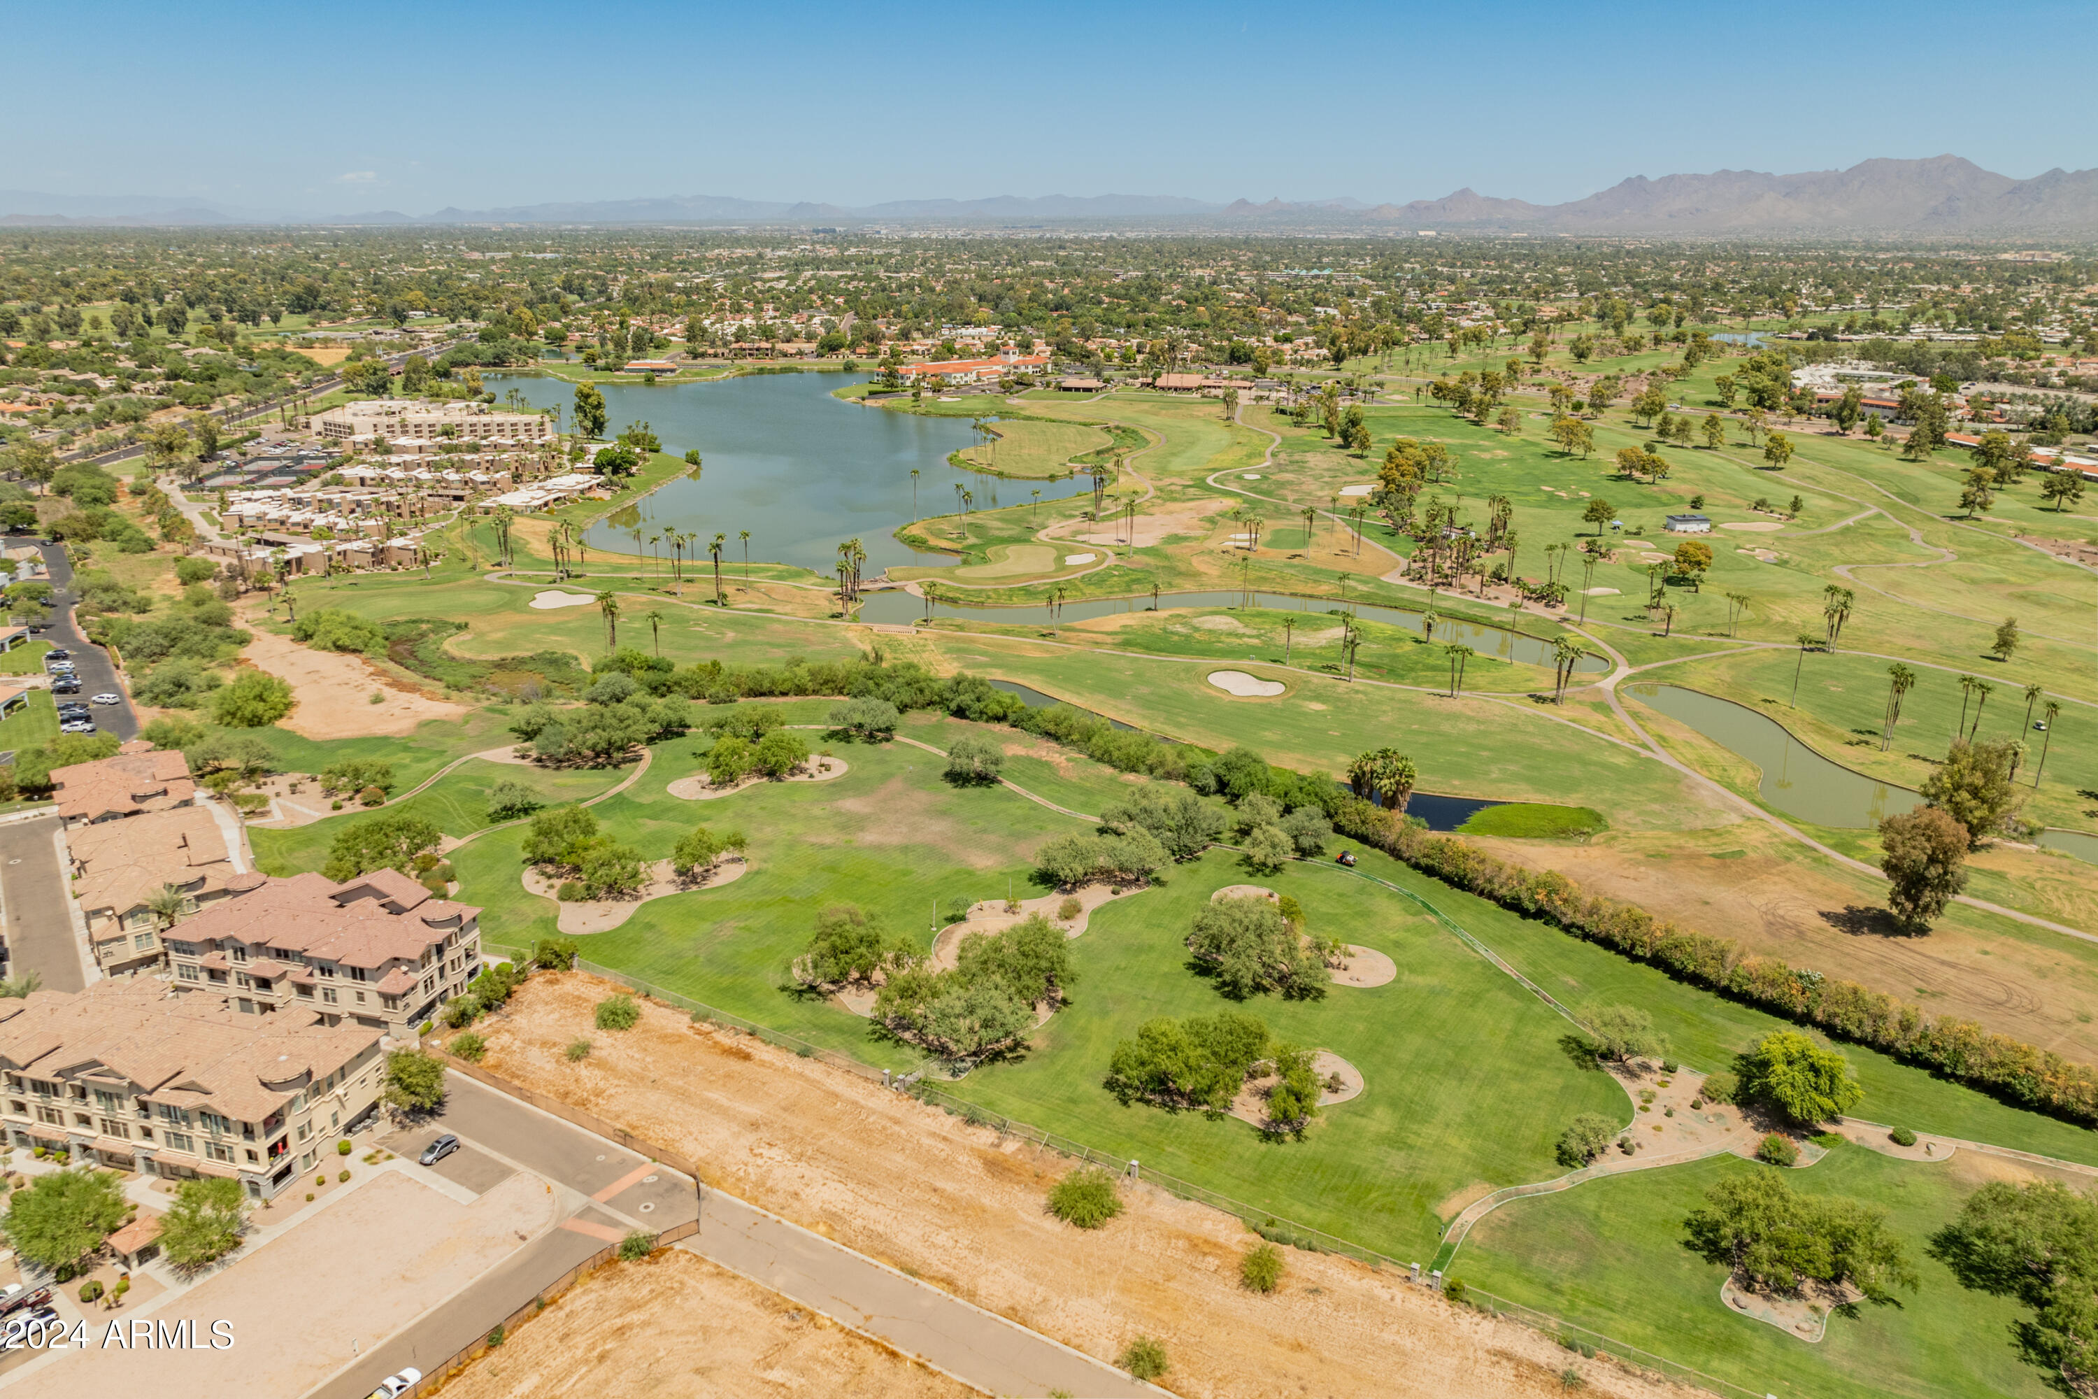
[[[0,1133],[115,1170],[269,1198],[378,1107],[380,1030],[243,1015],[151,977],[0,1000]]]

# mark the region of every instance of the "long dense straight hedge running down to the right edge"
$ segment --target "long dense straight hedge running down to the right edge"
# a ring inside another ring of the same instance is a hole
[[[1546,919],[1588,942],[1636,956],[1668,975],[1725,992],[1758,1009],[1817,1026],[1949,1078],[1960,1078],[2020,1107],[2098,1124],[2098,1072],[1970,1019],[1926,1019],[1922,1007],[1882,992],[1746,952],[1731,938],[1695,933],[1636,904],[1622,904],[1557,870],[1527,870],[1467,841],[1431,835],[1368,801],[1347,801],[1334,831],[1492,900]]]

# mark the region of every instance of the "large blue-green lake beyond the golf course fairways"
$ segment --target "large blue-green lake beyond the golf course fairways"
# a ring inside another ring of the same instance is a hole
[[[959,472],[950,451],[976,445],[965,419],[890,413],[831,396],[856,373],[762,373],[709,384],[600,384],[611,432],[646,422],[663,451],[682,457],[699,449],[699,480],[682,478],[655,491],[631,510],[600,520],[590,531],[596,547],[634,550],[634,531],[676,529],[701,537],[728,535],[726,558],[741,558],[738,531],[751,531],[751,558],[804,564],[816,573],[837,566],[837,545],[858,539],[866,573],[890,564],[934,562],[894,531],[908,524],[911,470],[919,470],[917,512],[950,514],[959,508],[955,485],[971,495],[973,510],[1089,493],[1091,480],[1003,480]],[[564,428],[575,424],[575,386],[539,375],[489,375],[497,394],[516,388],[537,409],[560,407]],[[994,399],[984,401],[997,413]],[[669,558],[669,552],[663,554]]]

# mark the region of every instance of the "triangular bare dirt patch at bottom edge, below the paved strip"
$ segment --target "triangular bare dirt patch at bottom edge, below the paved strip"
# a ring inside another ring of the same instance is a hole
[[[665,1326],[676,1317],[676,1326]],[[980,1391],[848,1332],[682,1248],[592,1273],[445,1386],[445,1399],[541,1395],[883,1395]]]

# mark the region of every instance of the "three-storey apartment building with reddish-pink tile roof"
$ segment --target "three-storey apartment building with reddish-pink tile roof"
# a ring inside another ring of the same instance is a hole
[[[409,1038],[480,973],[480,910],[399,870],[262,879],[166,933],[180,992]]]

